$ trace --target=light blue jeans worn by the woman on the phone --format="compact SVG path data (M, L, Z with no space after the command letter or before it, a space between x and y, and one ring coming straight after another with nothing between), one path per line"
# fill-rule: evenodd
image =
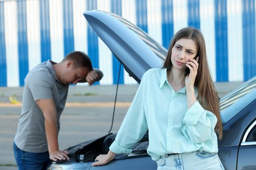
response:
M217 153L203 151L161 156L156 163L158 163L158 170L224 169Z

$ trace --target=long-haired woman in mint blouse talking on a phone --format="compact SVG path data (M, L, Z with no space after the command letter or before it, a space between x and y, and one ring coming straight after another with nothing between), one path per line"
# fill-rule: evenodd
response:
M184 76L185 68L190 73ZM205 41L186 27L173 37L163 68L146 71L104 165L148 131L148 154L158 169L224 169L217 155L222 136L219 97L207 64Z

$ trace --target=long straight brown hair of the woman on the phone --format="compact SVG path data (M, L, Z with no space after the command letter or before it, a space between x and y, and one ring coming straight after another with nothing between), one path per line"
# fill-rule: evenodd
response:
M213 112L213 114L215 114L217 117L217 125L215 126L215 131L219 134L219 139L221 139L223 135L223 124L221 122L219 95L215 89L215 85L209 71L205 41L203 39L202 33L193 27L185 27L178 31L171 40L167 58L163 63L163 68L171 69L173 65L171 63L171 50L179 39L192 39L192 41L196 43L198 48L197 56L199 56L199 65L194 86L198 87L198 101L202 105L203 109Z

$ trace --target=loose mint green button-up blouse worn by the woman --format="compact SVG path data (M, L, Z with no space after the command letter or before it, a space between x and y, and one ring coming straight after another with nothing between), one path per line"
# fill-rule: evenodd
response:
M148 131L147 152L152 160L196 150L218 152L216 124L215 114L203 109L198 101L187 109L186 88L175 92L167 82L167 69L150 69L142 76L110 150L130 153Z

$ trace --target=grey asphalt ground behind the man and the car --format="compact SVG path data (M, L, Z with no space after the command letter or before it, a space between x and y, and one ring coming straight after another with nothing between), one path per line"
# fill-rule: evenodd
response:
M241 84L217 83L215 86L222 98ZM112 133L118 131L138 86L119 85ZM22 90L0 88L0 169L17 169L12 143L21 111ZM111 128L115 97L116 86L70 86L66 108L60 118L60 149L106 135Z

